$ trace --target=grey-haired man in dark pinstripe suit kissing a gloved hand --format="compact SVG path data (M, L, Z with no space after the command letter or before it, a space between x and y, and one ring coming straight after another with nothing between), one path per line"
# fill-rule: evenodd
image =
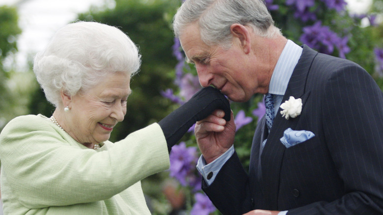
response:
M186 0L173 26L203 87L272 107L248 174L234 120L217 110L196 125L202 188L222 214L383 214L383 93L363 68L287 40L262 0Z

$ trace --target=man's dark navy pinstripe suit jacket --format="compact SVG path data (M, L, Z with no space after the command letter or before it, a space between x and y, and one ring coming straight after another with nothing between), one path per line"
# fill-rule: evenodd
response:
M307 46L283 101L301 98L301 115L278 114L265 138L256 128L248 174L236 153L203 190L224 215L253 209L290 214L383 214L383 93L357 64ZM306 130L315 137L285 148L283 132ZM240 143L239 143L240 144Z

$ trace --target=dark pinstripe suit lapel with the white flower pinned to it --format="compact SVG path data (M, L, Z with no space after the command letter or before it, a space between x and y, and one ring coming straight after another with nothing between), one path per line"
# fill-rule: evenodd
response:
M305 84L308 72L310 70L311 63L317 52L311 50L307 46L303 46L303 52L299 59L294 72L290 78L282 103L289 99L290 96L294 98L302 99L304 106L306 99L310 92L305 92ZM261 187L264 191L266 202L270 203L271 209L277 209L278 207L278 188L279 188L279 174L282 166L283 154L285 152L285 146L280 142L280 138L283 136L283 132L287 128L296 127L300 117L290 118L286 120L278 113L274 119L274 124L270 134L268 136L265 148L261 154L262 162L262 179Z

